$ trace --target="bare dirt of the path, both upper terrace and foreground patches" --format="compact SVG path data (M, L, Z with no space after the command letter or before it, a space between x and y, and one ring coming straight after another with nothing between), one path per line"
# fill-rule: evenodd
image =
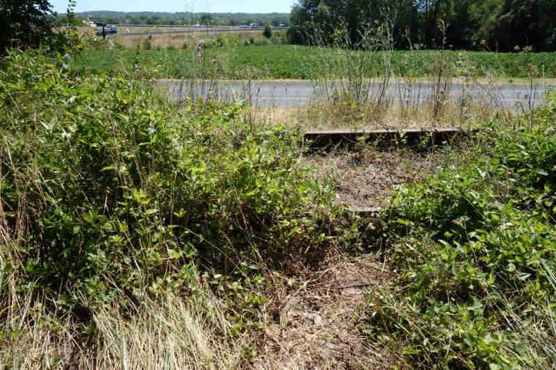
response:
M317 178L336 184L337 201L352 208L379 208L393 188L432 174L442 153L411 149L321 153L302 160ZM296 282L297 289L277 294L279 309L269 316L265 346L256 369L391 369L402 359L372 342L361 329L366 294L389 289L393 273L378 254L334 255L320 271ZM287 293L286 293L287 291Z

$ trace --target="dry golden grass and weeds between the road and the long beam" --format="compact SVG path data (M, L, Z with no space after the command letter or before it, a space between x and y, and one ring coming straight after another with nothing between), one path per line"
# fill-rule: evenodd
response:
M421 81L422 80L422 81ZM375 83L375 82L373 82ZM507 91L495 81L453 81L459 91L448 90L441 101L430 97L433 85L425 78L416 83L392 81L389 94L379 103L354 103L337 96L313 96L311 103L293 108L256 107L254 115L265 124L304 130L361 128L475 128L493 117L512 119L530 112L527 102L508 102ZM379 84L379 83L375 83ZM532 86L528 94L536 94ZM452 87L453 90L453 87ZM526 99L523 99L526 100Z

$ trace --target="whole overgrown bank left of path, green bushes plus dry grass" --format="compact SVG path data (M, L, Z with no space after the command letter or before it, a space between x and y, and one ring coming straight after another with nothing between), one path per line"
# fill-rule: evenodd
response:
M356 243L297 133L3 62L0 367L247 366L285 276Z

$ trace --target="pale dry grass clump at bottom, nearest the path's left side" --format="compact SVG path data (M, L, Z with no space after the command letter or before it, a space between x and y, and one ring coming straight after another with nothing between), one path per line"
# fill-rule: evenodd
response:
M102 345L99 369L236 369L245 362L245 337L232 337L219 302L167 296L147 301L124 319L114 311L95 315Z

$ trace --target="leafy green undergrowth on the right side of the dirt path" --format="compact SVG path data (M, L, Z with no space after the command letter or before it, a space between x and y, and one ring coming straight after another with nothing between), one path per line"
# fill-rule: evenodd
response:
M555 367L555 113L551 93L532 119L494 119L455 165L395 192L382 230L398 278L370 292L366 330L401 362Z

